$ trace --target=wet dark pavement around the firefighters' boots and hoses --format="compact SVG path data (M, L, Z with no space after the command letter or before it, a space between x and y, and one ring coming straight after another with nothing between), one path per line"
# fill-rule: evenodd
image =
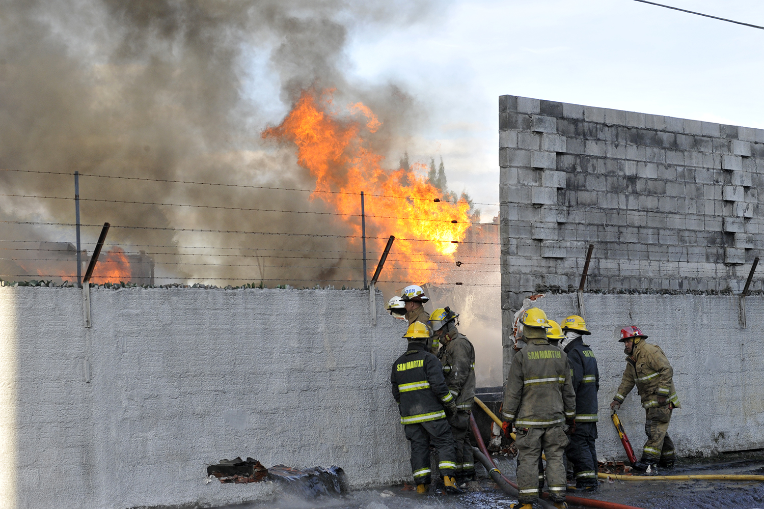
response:
M504 459L499 468L513 478L511 461ZM764 475L764 451L724 454L714 460L684 460L672 470L659 475L756 474ZM473 483L465 495L429 493L416 495L410 488L395 486L374 490L351 491L341 497L322 496L306 500L299 495L282 493L276 501L258 502L229 509L509 509L515 499L496 488L488 479ZM582 495L581 495L582 496ZM582 496L583 498L583 496ZM643 509L761 509L764 508L764 482L726 481L642 481L601 482L597 494L585 498L617 502ZM574 506L571 504L571 507Z

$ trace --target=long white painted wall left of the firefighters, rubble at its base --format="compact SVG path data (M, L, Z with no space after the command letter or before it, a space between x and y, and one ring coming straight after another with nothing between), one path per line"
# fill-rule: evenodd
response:
M390 395L405 325L358 290L0 288L0 507L225 504L206 466L410 476ZM89 368L86 368L86 363ZM86 372L91 373L86 382Z

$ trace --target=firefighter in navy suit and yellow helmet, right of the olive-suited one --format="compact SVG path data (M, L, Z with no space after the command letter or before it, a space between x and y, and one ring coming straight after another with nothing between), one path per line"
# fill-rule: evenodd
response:
M565 449L568 463L573 467L575 488L570 491L597 491L597 391L600 390L600 370L594 352L584 343L584 335L591 332L586 322L577 314L565 318L562 322L565 339L562 351L568 355L571 367L573 391L575 391L575 431L571 433L571 443Z

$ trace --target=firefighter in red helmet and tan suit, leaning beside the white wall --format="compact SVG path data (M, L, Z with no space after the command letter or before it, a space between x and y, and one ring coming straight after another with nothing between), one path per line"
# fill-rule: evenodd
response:
M642 449L642 459L634 463L634 469L655 472L656 465L672 468L675 460L674 442L669 437L669 421L674 408L681 408L674 388L674 370L663 350L657 345L645 343L647 336L639 327L630 325L621 329L619 342L626 353L626 370L621 385L613 396L610 409L620 408L634 385L645 408L645 433L647 443Z

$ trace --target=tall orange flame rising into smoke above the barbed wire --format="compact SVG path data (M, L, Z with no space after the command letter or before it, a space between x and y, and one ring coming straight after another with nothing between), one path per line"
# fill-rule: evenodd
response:
M403 253L410 261L391 261L398 270L396 278L411 282L441 282L442 275L429 255L453 256L458 242L471 226L467 201L435 201L442 191L429 184L426 177L404 169L387 170L384 157L370 148L371 137L381 123L377 116L359 103L347 112L332 111L331 92L317 97L303 92L296 105L277 127L264 130L263 137L296 146L300 166L316 179L312 198L321 198L339 213L355 216L348 221L354 235L361 235L359 194L365 200L367 235L396 237L393 252ZM354 120L362 114L365 122ZM419 165L424 169L424 165ZM334 191L350 194L329 194ZM383 196L375 196L383 195ZM360 243L360 240L358 240ZM381 251L384 239L371 240L369 250Z

